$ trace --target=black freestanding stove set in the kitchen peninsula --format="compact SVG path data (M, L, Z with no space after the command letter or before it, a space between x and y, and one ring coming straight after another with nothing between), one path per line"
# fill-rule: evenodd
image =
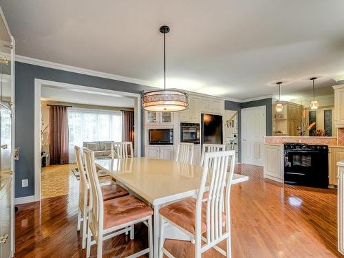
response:
M327 145L286 142L284 144L284 183L327 188Z

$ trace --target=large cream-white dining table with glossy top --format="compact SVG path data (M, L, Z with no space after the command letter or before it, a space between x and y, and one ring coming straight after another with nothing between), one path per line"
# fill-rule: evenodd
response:
M195 197L200 187L202 167L154 158L96 160L96 166L153 207L153 251L154 257L158 257L159 209L164 204ZM235 173L231 183L247 180L248 176ZM166 238L190 240L189 236L172 226L166 228Z

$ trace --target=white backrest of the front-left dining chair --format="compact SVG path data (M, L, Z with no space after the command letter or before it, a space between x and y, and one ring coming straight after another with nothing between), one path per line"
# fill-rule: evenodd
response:
M100 189L96 164L94 163L94 152L84 149L85 171L89 183L89 229L92 230L94 238L98 239L99 230L103 228L103 195Z

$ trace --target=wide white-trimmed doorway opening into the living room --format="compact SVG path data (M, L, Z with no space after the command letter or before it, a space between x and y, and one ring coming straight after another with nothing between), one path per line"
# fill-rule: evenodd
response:
M127 109L132 110L130 112L131 116L133 116L133 120L131 120L133 125L131 128L133 129L133 145L136 147L134 148L134 154L140 157L140 94L116 92L109 89L98 89L94 87L35 79L34 96L34 196L36 201L41 200L42 197L62 195L64 193L71 193L71 191L74 191L74 184L70 184L70 182L75 183L75 178L78 178L78 171L74 174L70 172L74 166L76 166L74 164L74 144L78 146L80 145L80 147L85 147L85 142L92 142L94 140L100 143L109 140L122 141L121 138L123 136L120 136L122 133L117 133L119 135L117 137L116 131L118 131L117 127L120 125L118 119L121 118L123 112L127 112ZM114 106L115 104L116 107ZM130 107L127 107L126 105L129 104ZM67 107L68 109L68 136L66 136L70 143L67 144L68 147L66 148L69 157L68 162L50 162L52 160L52 153L49 151L49 142L47 141L47 136L45 134L47 134L47 131L51 132L48 126L50 125L49 115L47 116L46 114L49 114L51 107ZM87 130L80 130L79 127L83 127ZM94 138L94 136L97 137ZM100 149L98 153L104 154L105 151L101 150L102 149ZM43 163L45 164L45 167L41 168ZM52 164L53 166L47 167L49 164ZM45 181L42 180L43 176L45 176L45 178L43 178ZM51 180L52 178L54 179ZM72 178L72 180L70 180L70 178ZM61 181L61 184L56 183L58 181L57 179ZM44 184L44 182L46 184ZM45 187L47 191L42 195L43 187Z

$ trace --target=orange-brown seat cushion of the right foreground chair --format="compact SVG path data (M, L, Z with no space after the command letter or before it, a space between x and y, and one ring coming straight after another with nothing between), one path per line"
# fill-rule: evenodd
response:
M202 220L201 220L201 232L206 232L206 202L202 205ZM166 205L160 208L160 215L169 219L177 226L184 228L191 234L195 235L196 231L196 199L186 198L180 202ZM222 220L226 219L226 215L222 213Z

